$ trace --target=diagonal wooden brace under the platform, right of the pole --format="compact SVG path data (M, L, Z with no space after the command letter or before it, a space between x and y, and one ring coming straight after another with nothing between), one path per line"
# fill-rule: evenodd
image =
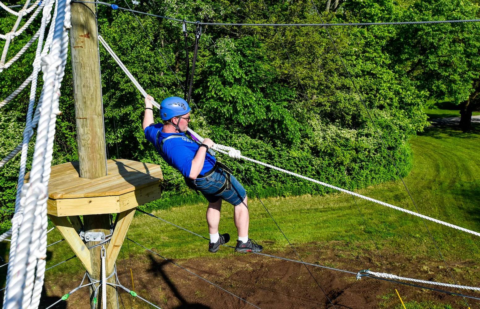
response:
M117 214L113 235L107 248L107 273L113 272L115 261L117 261L121 245L123 244L123 240L127 235L128 228L132 223L135 210L136 207Z

